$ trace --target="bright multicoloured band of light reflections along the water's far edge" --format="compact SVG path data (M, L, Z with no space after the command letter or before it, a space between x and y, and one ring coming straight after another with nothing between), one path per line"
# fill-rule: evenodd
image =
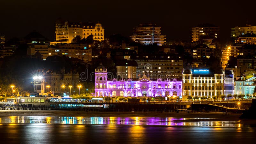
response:
M207 120L207 121L204 121ZM175 117L59 117L59 116L6 116L0 117L0 124L42 123L42 124L107 124L107 125L166 125L166 126L213 126L242 127L237 121L210 121L211 118Z

